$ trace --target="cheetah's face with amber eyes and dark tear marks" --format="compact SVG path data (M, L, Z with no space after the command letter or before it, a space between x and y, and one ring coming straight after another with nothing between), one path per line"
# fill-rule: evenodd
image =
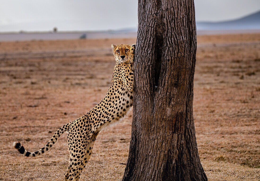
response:
M112 49L115 56L116 63L126 63L130 59L130 45L121 44L121 45L113 45Z

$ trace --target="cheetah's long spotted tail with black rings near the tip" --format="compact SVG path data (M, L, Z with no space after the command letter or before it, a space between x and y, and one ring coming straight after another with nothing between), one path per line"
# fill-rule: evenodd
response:
M56 131L56 133L54 133L54 135L51 137L50 141L40 150L36 151L36 152L28 152L24 149L23 145L21 145L20 142L14 142L14 147L23 155L26 157L37 157L39 155L42 155L43 153L47 152L48 150L50 150L50 148L57 142L58 138L60 138L60 136L68 130L70 123L67 123L65 125L63 125L60 129L58 129Z

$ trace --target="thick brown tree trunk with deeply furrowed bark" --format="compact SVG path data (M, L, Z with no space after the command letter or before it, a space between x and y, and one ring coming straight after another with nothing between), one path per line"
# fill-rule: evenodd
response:
M139 0L132 137L123 181L207 180L193 120L193 0Z

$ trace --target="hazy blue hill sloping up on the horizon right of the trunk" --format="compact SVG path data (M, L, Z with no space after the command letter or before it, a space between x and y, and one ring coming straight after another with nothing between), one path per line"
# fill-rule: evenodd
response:
M241 30L260 29L260 11L239 18L222 22L196 22L197 30Z

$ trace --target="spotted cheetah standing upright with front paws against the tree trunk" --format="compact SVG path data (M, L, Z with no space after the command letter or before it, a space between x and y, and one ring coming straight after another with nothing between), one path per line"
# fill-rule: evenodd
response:
M20 142L14 147L26 157L37 157L46 153L57 139L68 132L68 148L70 151L69 165L65 181L80 180L80 174L92 154L92 148L99 132L122 120L133 105L133 62L135 44L112 45L116 65L111 84L106 96L90 111L80 118L63 125L56 131L50 141L36 152L28 152Z

